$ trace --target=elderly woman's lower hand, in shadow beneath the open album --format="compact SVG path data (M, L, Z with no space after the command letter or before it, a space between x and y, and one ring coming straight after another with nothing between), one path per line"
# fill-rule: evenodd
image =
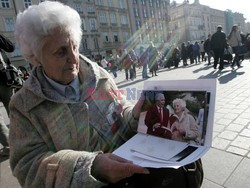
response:
M111 153L97 155L91 168L92 176L109 183L116 183L135 173L149 174L149 171Z

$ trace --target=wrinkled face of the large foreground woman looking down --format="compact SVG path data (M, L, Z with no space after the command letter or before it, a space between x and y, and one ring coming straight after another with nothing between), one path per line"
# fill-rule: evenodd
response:
M52 80L69 84L79 72L79 51L67 32L56 29L42 48L42 67Z

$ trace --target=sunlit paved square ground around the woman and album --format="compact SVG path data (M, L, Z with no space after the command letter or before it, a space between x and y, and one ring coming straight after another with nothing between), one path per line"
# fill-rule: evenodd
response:
M234 70L226 65L222 71L214 70L212 65L204 62L187 67L181 65L179 68L160 69L158 76L148 79L216 78L218 81L212 147L202 157L205 175L202 188L250 187L250 60L244 60L241 65ZM137 70L137 78L133 81L125 80L125 73L119 71L115 78L118 88L125 93L127 89L142 90L145 80L141 70ZM1 105L0 110L3 111ZM0 158L0 188L19 187L11 175L8 159Z

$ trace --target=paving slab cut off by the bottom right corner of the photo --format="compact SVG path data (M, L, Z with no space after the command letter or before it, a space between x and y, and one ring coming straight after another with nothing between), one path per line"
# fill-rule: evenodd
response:
M227 188L250 187L250 159L244 158L225 183Z

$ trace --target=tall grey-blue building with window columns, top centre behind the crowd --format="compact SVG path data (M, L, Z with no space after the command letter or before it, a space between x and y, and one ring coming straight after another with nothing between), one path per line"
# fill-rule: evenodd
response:
M126 46L138 49L167 41L170 0L127 0L127 4L133 36Z

